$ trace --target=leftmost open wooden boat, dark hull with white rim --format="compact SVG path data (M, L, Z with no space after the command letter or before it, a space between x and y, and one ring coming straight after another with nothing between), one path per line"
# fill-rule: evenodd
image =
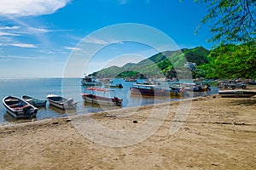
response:
M29 104L24 99L15 96L6 96L3 98L3 105L7 112L16 119L32 118L37 116L38 108Z

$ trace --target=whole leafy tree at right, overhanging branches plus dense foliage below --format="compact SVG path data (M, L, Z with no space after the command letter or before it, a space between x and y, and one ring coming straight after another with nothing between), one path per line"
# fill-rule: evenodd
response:
M211 78L256 78L256 1L195 0L207 4L201 24L210 22L212 38L218 48L201 65L198 76ZM198 29L197 29L198 31Z

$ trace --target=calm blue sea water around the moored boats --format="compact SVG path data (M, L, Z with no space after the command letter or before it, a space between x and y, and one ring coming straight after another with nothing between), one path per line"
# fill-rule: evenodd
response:
M81 94L86 92L85 86L81 85L80 78L15 78L15 79L0 79L0 99L7 95L20 97L23 94L32 96L38 99L46 99L48 94L58 94L67 99L73 98L77 101L77 107L72 111L62 111L55 106L49 105L47 102L46 107L39 107L36 118L16 120L10 116L5 107L0 104L0 125L9 125L20 122L32 122L44 119L55 119L57 117L82 115L92 112L107 111L117 109L116 107L102 107L101 105L91 105L85 103ZM153 105L164 102L172 102L180 98L170 97L144 97L140 95L133 95L130 93L130 88L134 82L125 82L123 79L114 79L113 84L121 83L124 88L111 88L118 98L124 99L121 108L139 107L141 105ZM104 88L98 87L98 88ZM190 97L197 97L201 95L218 94L218 88L211 87L212 90L207 93L193 94ZM118 107L120 108L120 107Z

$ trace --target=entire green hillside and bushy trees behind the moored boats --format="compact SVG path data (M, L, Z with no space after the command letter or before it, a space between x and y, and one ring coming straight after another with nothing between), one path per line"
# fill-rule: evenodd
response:
M250 78L256 79L256 43L225 44L211 51L203 47L165 51L143 59L137 64L111 66L94 72L96 77L130 78ZM187 62L196 63L191 71Z

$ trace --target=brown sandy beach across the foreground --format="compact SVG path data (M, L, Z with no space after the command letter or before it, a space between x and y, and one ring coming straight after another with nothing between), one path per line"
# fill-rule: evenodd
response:
M179 109L177 101L0 127L0 169L256 169L255 98L193 99L180 119Z

